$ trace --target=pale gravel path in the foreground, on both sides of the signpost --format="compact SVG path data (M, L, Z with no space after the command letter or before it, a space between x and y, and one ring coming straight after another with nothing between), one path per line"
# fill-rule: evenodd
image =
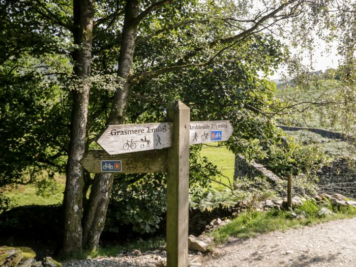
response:
M313 227L260 234L247 240L231 238L213 253L190 254L190 266L356 266L356 218L331 221ZM65 262L64 267L165 266L165 251L141 256L87 259ZM199 262L194 263L194 262Z

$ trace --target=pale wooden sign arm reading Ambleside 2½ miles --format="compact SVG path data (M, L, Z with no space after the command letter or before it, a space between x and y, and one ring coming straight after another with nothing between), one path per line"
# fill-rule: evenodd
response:
M189 144L227 141L233 131L229 121L191 122L189 129Z

